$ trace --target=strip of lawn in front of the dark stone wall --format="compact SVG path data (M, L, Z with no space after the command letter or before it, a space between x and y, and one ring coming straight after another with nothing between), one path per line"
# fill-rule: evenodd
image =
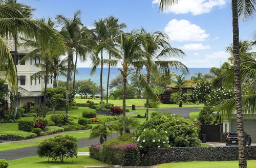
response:
M238 161L188 161L176 163L164 163L157 165L158 168L237 168ZM247 167L256 167L256 160L247 160Z

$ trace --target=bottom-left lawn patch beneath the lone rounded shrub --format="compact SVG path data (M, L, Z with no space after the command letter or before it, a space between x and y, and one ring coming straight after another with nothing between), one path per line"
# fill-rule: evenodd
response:
M104 166L106 163L93 159L89 156L77 156L72 159L64 159L63 163L57 161L48 161L48 158L39 158L38 156L25 157L8 161L9 168L40 168L40 167L87 167Z

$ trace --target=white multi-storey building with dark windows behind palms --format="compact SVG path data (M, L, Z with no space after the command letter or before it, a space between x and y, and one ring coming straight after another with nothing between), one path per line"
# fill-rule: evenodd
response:
M14 55L14 41L5 40L11 54ZM22 41L19 41L22 42ZM41 68L36 67L35 64L42 63L39 57L27 60L26 62L19 63L19 61L30 51L32 48L18 47L17 51L17 75L18 75L18 92L20 92L19 104L22 105L27 102L35 102L39 105L42 102L41 91L44 89L44 78L32 78L32 75L41 71ZM53 78L50 76L48 79L47 87L53 88Z

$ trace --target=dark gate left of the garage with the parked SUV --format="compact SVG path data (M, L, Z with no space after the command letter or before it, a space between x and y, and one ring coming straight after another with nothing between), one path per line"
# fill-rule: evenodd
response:
M201 125L202 134L207 135L207 142L220 142L222 133L222 125Z

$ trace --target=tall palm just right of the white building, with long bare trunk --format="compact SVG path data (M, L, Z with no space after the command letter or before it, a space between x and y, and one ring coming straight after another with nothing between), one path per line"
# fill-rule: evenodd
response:
M62 26L60 34L63 36L63 40L65 41L68 53L66 114L69 114L69 84L71 78L71 66L73 62L74 48L82 43L82 40L80 40L80 27L82 26L80 14L81 12L79 10L74 14L72 19L66 18L63 15L57 15L56 17L58 23Z

